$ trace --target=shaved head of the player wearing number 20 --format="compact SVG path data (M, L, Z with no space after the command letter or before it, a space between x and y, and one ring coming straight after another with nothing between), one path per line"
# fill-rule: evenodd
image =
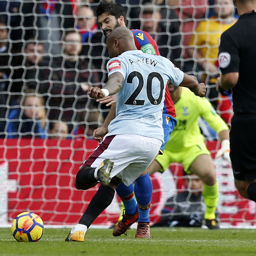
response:
M137 50L132 31L127 27L116 27L107 38L107 48L111 58L126 51Z

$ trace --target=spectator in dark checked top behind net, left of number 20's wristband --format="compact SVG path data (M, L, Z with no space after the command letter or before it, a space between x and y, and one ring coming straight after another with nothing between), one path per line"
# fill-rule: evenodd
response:
M69 133L75 122L81 120L83 112L97 108L96 101L87 95L89 86L99 86L99 75L88 61L82 59L81 35L68 31L64 36L62 56L54 58L46 71L48 83L43 92L47 93L49 120L63 120L69 124Z

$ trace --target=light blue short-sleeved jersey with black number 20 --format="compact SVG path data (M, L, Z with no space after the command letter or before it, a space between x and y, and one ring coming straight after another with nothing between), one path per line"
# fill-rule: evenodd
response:
M107 64L108 76L120 72L124 81L116 94L116 117L108 135L137 134L163 141L162 111L167 81L179 86L184 73L162 56L126 51Z

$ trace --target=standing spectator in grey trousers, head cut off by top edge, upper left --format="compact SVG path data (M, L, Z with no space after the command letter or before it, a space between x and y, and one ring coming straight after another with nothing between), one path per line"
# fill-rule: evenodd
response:
M47 57L61 54L62 31L74 29L72 0L21 1L21 39L42 40Z

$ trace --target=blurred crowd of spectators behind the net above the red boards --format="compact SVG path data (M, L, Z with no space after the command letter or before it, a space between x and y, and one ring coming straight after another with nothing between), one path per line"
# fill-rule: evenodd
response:
M206 96L229 124L232 102L213 85L220 35L236 22L232 0L115 2L126 8L129 28L148 32L162 56L212 85ZM0 1L1 138L90 137L102 124L108 108L87 95L89 86L107 81L98 3Z

